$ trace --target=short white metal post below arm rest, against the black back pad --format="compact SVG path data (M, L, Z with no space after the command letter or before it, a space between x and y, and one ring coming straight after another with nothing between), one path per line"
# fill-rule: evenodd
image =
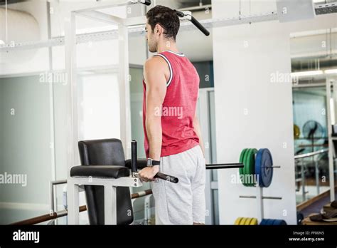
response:
M116 187L104 187L104 215L105 224L117 224L117 195Z

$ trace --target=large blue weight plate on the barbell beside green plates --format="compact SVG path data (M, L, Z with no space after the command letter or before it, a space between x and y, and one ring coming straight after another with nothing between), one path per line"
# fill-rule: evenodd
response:
M259 180L260 187L269 187L272 183L272 154L268 149L260 149L255 160L255 173Z

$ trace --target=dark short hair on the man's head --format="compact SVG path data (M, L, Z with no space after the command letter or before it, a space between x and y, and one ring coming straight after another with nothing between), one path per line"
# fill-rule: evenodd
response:
M165 6L157 5L147 12L146 18L152 31L154 31L156 24L159 24L165 29L165 37L173 38L174 41L176 41L176 36L180 28L180 20L176 11Z

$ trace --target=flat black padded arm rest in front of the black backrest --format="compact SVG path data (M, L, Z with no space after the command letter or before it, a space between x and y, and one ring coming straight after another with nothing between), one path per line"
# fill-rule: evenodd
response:
M70 170L70 177L119 178L129 177L129 175L129 169L124 166L80 165L72 167Z

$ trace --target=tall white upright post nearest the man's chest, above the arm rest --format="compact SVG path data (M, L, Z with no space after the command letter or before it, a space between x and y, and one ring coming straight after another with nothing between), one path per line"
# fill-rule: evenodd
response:
M119 24L119 109L120 138L126 157L131 157L131 116L129 82L129 39L127 26Z

